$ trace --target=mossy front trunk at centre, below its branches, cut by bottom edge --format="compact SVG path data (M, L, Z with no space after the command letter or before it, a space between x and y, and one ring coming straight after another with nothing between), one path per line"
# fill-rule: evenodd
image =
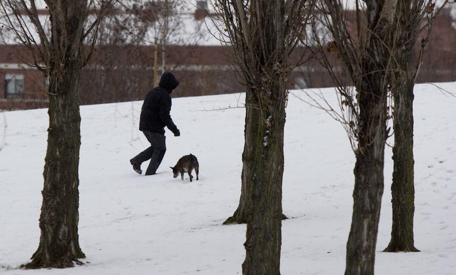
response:
M256 101L253 97L247 100ZM251 204L251 214L246 217L244 275L280 274L285 105L273 100L270 106L270 113L249 107L246 117L249 128L245 131L242 178L249 187L244 196Z

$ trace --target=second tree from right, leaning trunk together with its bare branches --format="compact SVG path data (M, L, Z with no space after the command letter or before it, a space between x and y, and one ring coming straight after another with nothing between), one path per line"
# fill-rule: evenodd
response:
M389 0L355 1L352 17L342 1L324 0L320 24L332 41L324 41L314 27L316 43L333 53L343 70L335 71L324 54L322 62L337 83L343 123L356 155L353 214L347 241L346 275L373 274L380 205L383 195L384 148L388 137L389 76L394 69ZM347 24L348 20L352 24ZM349 26L354 26L349 29ZM328 112L334 109L329 108Z

